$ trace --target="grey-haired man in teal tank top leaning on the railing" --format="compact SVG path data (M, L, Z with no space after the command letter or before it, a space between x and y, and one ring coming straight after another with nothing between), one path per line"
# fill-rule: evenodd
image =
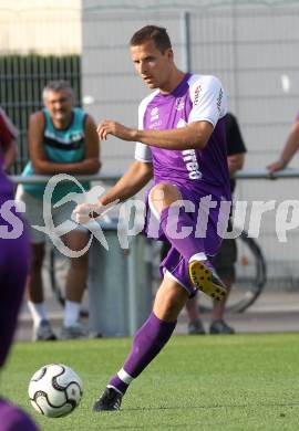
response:
M50 82L43 90L44 108L30 116L28 141L30 160L23 176L55 174L90 175L100 169L99 137L90 115L74 107L74 94L65 81ZM89 189L89 183L82 186ZM51 340L56 336L47 316L43 297L42 263L44 257L44 234L32 225L43 225L43 192L45 185L28 183L19 187L18 198L27 206L30 224L32 261L27 282L28 305L33 318L33 340ZM70 192L81 192L74 182L60 182L52 196L52 217L55 225L70 219L74 202L59 208L53 204ZM63 235L65 244L73 251L82 250L89 233L83 227ZM65 309L61 338L86 336L80 324L80 306L87 276L87 254L71 259L65 283Z

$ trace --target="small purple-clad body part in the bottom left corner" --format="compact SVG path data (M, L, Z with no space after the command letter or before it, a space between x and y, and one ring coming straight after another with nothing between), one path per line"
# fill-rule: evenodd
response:
M0 399L0 431L39 431L20 408Z

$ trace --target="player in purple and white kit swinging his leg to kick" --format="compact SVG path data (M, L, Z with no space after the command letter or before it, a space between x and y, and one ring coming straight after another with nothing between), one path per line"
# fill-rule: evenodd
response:
M230 200L224 88L214 76L193 75L176 67L164 28L146 25L138 30L130 49L136 71L155 91L140 105L138 129L105 119L97 132L101 139L114 135L137 141L136 160L99 203L78 206L76 219L87 222L101 213L102 206L134 196L154 177L146 198L145 232L153 235L151 220L155 217L159 220L159 239L166 238L172 249L162 262L164 278L153 312L136 333L123 367L95 402L95 411L120 409L130 383L171 338L189 296L197 290L218 299L226 294L208 261L221 242L217 234L220 202ZM200 198L204 204L199 206ZM198 217L207 219L207 229L199 223L202 235L195 234ZM186 229L192 233L186 235Z

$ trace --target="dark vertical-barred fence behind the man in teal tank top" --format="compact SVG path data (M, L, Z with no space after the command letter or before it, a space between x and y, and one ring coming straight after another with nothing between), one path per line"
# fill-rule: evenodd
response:
M42 90L52 80L68 80L81 101L81 59L79 55L1 55L0 101L20 130L19 156L13 171L19 174L28 160L27 128L30 114L42 107Z

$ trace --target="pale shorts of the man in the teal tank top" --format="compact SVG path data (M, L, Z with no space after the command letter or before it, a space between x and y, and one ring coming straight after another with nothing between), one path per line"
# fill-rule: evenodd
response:
M33 225L38 225L38 227L45 225L44 216L43 216L43 201L41 199L34 198L32 195L24 191L21 185L18 186L16 200L22 201L25 204L24 218L29 224L29 233L30 233L31 242L33 244L45 242L47 234L33 228ZM51 206L51 213L52 213L54 225L59 227L68 220L73 222L71 216L75 207L76 203L74 201L63 203L58 208L53 208L53 206ZM72 231L74 230L86 232L86 234L89 232L89 230L81 224L76 224L76 228L73 229Z

